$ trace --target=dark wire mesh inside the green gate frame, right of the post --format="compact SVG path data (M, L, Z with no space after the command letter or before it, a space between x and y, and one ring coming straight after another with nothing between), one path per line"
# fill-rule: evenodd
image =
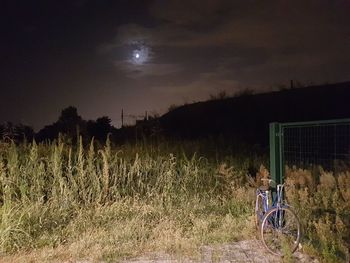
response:
M320 165L326 170L350 165L350 123L283 127L285 165Z

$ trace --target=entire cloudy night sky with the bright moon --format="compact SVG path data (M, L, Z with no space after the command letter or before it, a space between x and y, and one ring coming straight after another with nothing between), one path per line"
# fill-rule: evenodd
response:
M0 122L36 130L350 80L349 0L0 1ZM132 117L129 121L132 121Z

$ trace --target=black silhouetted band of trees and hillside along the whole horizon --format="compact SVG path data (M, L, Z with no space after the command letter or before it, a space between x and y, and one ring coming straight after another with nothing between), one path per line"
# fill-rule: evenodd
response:
M140 140L200 139L222 136L232 143L245 142L266 146L271 122L292 122L348 118L350 82L294 88L283 88L270 93L254 94L245 89L233 97L225 92L205 102L171 106L161 117L145 117L133 126L116 129L108 116L84 120L75 107L62 110L58 120L34 134L31 127L6 123L0 125L1 138L16 142L52 141L59 134L75 143L82 136L83 143L92 138L104 143L107 136L115 144ZM298 88L296 88L298 87Z

